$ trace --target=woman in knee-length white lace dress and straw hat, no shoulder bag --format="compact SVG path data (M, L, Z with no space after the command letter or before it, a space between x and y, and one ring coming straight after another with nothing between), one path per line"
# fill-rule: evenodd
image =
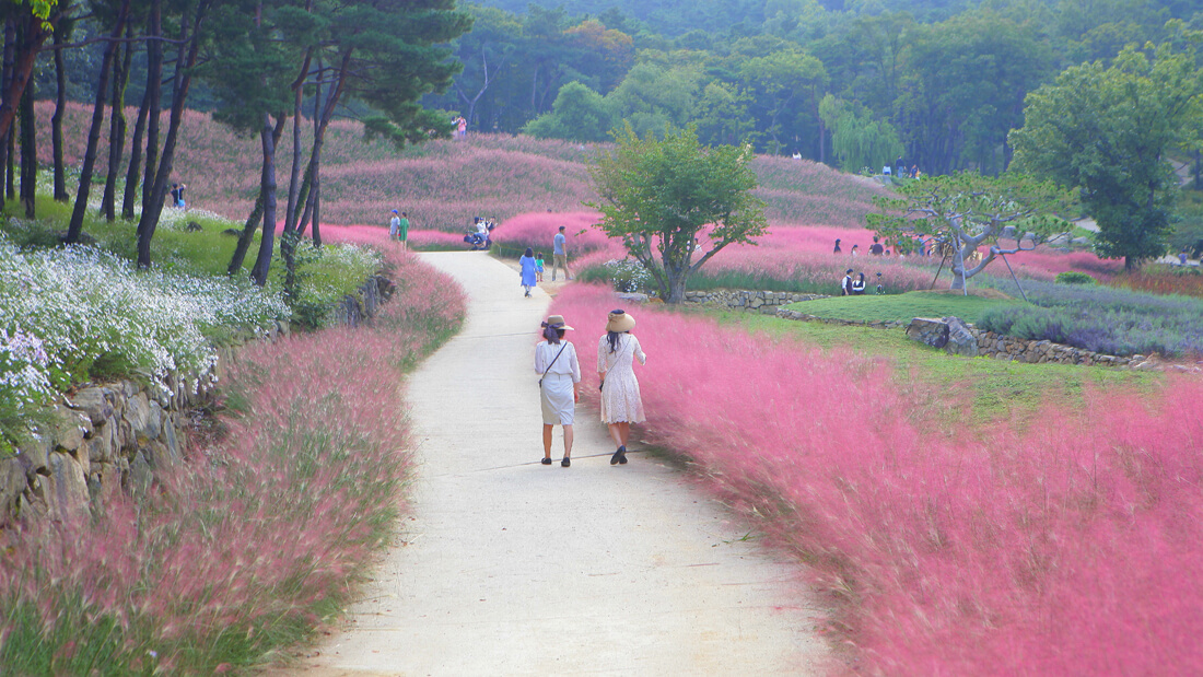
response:
M634 361L647 363L639 339L630 334L635 319L629 313L611 310L605 325L606 334L598 342L598 379L602 380L602 422L610 429L610 438L618 447L610 457L610 465L627 462L627 440L630 424L642 423L644 400L639 397Z

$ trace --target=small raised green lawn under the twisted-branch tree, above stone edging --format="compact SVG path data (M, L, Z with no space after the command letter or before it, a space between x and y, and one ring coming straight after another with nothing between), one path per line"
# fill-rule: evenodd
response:
M959 296L930 291L896 295L832 296L787 305L790 310L838 320L901 321L912 317L947 317L955 315L966 322L977 322L986 308L1018 303L1012 299Z

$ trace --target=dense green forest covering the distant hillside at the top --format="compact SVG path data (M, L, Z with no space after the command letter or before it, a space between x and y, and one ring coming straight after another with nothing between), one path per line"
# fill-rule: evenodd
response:
M605 141L695 123L847 171L1005 170L1025 96L1071 65L1171 40L1189 0L486 0L428 106L469 130ZM541 117L541 118L540 118Z

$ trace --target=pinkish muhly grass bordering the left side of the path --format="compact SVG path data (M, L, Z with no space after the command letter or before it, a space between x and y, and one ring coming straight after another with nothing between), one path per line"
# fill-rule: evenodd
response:
M43 521L0 536L0 665L223 671L339 608L411 468L402 368L464 311L452 280L385 250L399 284L378 328L242 346L223 390L241 415L223 418L219 444L194 443L156 471L149 498L118 493L95 525Z

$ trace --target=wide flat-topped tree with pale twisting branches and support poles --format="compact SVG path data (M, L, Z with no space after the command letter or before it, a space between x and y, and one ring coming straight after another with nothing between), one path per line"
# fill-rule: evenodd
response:
M1066 213L1073 201L1051 182L964 172L906 182L897 188L897 197L875 197L873 203L882 213L867 216L870 228L902 251L917 239L946 248L953 259L950 289L965 289L966 280L1000 255L1030 251L1053 233L1068 231L1068 222L1057 214ZM1011 234L1008 228L1015 232L1014 247L1000 243L1005 233ZM989 253L967 267L983 245Z

